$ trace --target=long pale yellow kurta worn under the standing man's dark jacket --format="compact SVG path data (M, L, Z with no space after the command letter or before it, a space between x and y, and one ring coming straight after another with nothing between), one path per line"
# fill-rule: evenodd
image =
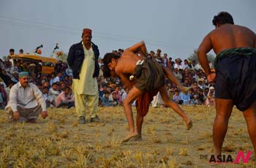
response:
M94 50L90 47L89 50L83 45L85 58L80 70L80 79L73 80L73 89L78 94L96 95L98 94L97 78L93 77L95 69Z

